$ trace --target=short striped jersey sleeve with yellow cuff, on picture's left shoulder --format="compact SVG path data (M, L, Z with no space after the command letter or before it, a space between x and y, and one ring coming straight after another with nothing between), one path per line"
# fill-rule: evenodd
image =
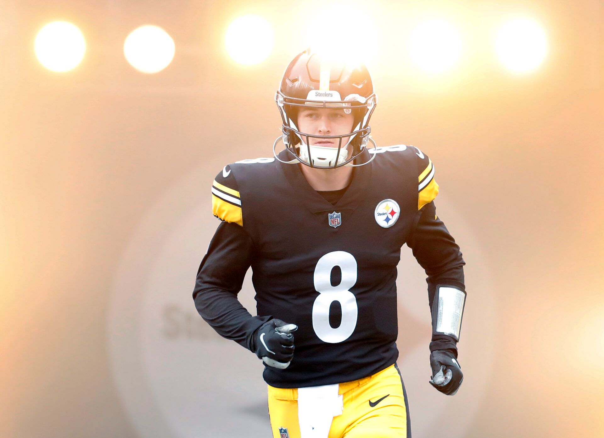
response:
M228 164L216 175L212 183L212 214L220 221L243 227L239 186Z

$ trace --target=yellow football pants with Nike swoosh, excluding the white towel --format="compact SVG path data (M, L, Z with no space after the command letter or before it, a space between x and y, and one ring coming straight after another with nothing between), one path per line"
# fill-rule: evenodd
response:
M343 396L344 410L333 417L329 438L411 438L407 394L396 364L369 377L340 383L338 394ZM301 438L297 400L297 389L268 386L274 438L281 438L280 429L282 433L286 429L289 438Z

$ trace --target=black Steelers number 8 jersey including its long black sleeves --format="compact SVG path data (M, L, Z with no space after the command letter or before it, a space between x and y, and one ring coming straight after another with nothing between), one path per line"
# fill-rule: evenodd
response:
M226 224L199 268L196 307L218 333L248 348L270 318L298 325L289 367L265 367L271 386L352 381L396 361L403 244L428 273L430 300L437 283L464 287L461 253L435 214L431 160L404 145L363 158L371 154L335 205L298 164L274 158L229 164L214 180L213 213ZM236 299L249 266L254 318ZM451 338L437 338L431 349L455 348Z

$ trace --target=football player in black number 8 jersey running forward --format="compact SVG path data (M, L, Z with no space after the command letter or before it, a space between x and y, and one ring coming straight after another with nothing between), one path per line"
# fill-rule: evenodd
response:
M413 146L377 148L362 64L304 51L275 100L274 157L228 164L211 187L222 223L199 266L196 308L265 363L275 438L410 437L396 364L405 243L428 275L429 383L454 395L463 380L464 261L435 211L434 164ZM258 316L237 300L249 267Z

